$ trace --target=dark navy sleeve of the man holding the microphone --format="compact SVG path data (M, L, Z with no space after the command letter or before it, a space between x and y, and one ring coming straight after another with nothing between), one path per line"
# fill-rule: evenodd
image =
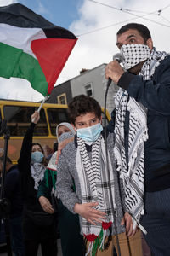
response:
M150 80L141 75L123 73L118 86L127 90L129 96L144 105L145 108L168 115L170 113L170 56L156 67Z

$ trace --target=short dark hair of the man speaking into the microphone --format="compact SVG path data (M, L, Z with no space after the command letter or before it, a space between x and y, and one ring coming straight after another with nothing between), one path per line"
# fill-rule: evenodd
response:
M144 39L144 42L151 38L150 31L147 26L139 23L128 23L127 25L122 26L122 28L120 28L117 32L117 36L122 35L122 33L127 32L129 29L136 29L140 36Z

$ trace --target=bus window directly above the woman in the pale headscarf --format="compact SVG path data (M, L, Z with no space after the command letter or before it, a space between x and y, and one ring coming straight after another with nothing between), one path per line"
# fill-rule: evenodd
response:
M68 122L66 108L48 108L48 121L52 135L56 136L56 126L62 122Z

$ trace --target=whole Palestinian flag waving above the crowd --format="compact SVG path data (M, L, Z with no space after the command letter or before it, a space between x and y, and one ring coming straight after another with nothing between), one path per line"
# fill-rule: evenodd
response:
M73 33L20 3L0 7L0 76L3 78L27 79L33 89L47 96L76 42Z

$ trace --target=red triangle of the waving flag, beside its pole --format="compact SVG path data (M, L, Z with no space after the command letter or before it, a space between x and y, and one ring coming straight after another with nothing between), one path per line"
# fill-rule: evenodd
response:
M48 82L48 94L53 90L59 73L76 43L77 39L68 38L44 38L31 42L31 50L36 55Z

